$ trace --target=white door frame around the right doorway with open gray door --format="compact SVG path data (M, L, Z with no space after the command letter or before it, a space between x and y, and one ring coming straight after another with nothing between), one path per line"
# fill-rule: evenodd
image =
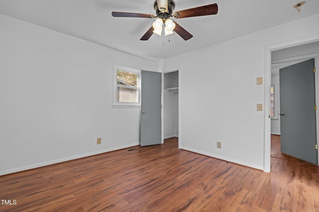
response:
M272 64L274 61L277 63L284 63L288 62L287 58L290 58L290 62L293 62L294 60L301 60L307 59L307 58L315 58L315 65L316 67L319 67L319 53L317 48L315 52L309 52L309 50L306 48L307 46L312 46L316 49L316 45L319 44L319 36L316 38L304 38L296 41L291 41L287 43L282 44L276 44L272 46L267 46L265 48L265 105L271 105L271 76L272 76ZM297 50L301 50L301 52L298 53ZM308 52L307 52L308 51ZM298 53L298 55L296 55ZM292 55L295 54L295 55ZM281 55L281 59L274 59L275 56ZM307 56L307 57L305 57ZM318 77L316 77L316 104L318 105ZM265 152L264 152L264 171L270 172L270 143L271 143L271 108L265 107ZM317 126L318 126L318 113L316 115L317 117ZM317 129L318 131L318 129ZM279 133L280 134L280 133ZM278 135L278 134L277 134ZM317 132L318 135L318 132ZM318 137L318 136L317 136ZM318 141L318 138L317 138Z

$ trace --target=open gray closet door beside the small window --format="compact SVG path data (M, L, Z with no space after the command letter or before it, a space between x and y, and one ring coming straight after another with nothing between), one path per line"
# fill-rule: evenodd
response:
M142 71L141 146L161 143L161 73Z

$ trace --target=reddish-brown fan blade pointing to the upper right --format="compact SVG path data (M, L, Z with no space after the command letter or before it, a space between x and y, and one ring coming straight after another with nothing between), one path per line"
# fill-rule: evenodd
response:
M215 15L218 12L217 3L208 4L205 6L198 6L190 9L184 9L174 12L173 16L175 18L187 18L203 15Z

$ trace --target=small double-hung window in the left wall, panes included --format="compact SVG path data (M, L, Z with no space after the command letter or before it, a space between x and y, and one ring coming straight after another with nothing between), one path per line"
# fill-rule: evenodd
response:
M113 106L141 106L141 71L114 66Z

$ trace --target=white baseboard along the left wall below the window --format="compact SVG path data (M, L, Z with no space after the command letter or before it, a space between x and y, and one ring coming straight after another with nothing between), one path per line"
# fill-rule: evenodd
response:
M28 170L28 169L39 168L39 167L42 167L42 166L52 165L52 164L55 164L55 163L61 163L61 162L69 161L69 160L79 159L79 158L82 158L82 157L87 157L87 156L92 156L92 155L96 155L96 154L106 153L106 152L115 151L115 150L119 150L119 149L124 149L124 148L137 146L137 145L140 145L140 143L139 142L138 143L132 143L132 144L118 146L118 147L114 147L114 148L108 148L108 149L103 149L103 150L99 150L99 151L88 152L88 153L84 153L84 154L79 154L79 155L74 155L74 156L70 156L70 157L60 158L60 159L56 159L56 160L50 160L50 161L46 161L46 162L42 162L42 163L36 163L36 164L28 165L28 166L22 166L22 167L17 167L17 168L13 168L13 169L7 169L7 170L4 170L4 171L0 171L0 176L1 175L5 175L5 174L12 174L14 172L19 172L19 171L25 171L25 170Z

